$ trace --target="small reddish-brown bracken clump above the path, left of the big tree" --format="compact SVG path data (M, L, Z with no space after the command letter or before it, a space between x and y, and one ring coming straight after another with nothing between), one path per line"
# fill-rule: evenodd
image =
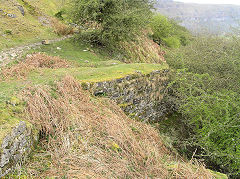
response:
M74 29L60 22L59 20L52 18L51 20L54 32L58 35L71 35L74 34Z

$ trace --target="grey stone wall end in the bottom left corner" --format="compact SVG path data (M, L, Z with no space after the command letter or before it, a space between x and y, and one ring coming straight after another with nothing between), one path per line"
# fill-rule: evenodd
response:
M11 172L17 163L23 162L37 140L32 127L20 121L0 142L0 178Z

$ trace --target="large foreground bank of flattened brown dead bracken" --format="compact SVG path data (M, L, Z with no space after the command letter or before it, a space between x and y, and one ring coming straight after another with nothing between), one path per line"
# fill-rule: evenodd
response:
M211 178L191 164L170 170L174 157L156 129L129 119L108 99L89 97L72 77L26 89L22 97L29 121L44 131L45 150L29 162L29 177Z

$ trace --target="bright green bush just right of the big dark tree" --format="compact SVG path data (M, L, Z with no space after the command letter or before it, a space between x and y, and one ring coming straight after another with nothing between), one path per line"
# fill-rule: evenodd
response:
M153 31L153 40L171 48L186 46L191 38L186 28L161 14L153 16L150 27Z

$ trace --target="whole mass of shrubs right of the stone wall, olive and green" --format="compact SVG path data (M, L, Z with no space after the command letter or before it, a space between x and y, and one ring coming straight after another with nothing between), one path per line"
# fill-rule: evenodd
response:
M189 147L231 177L240 175L240 44L199 38L168 55L169 85L178 113L194 136Z

